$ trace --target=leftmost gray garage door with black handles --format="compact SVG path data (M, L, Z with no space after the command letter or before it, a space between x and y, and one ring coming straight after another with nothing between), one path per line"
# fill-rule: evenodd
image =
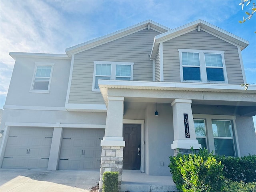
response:
M52 128L11 127L2 168L47 169Z

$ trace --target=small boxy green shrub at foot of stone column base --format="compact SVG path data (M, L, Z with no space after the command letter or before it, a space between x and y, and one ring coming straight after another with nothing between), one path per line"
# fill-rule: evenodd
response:
M106 171L103 173L103 192L118 192L118 172Z

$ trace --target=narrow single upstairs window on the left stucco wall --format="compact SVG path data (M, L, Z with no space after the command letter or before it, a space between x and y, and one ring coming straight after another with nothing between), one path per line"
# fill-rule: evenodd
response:
M36 62L30 92L49 92L54 63Z

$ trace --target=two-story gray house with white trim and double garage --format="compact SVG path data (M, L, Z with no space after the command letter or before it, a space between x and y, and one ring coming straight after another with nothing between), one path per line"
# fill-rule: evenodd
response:
M207 148L256 154L241 51L248 42L202 20L151 20L66 49L15 59L1 130L2 168L169 175L169 156Z

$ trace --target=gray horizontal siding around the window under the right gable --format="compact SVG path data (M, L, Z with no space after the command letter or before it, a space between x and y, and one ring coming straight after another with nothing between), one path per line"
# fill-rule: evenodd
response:
M228 83L244 82L237 47L203 30L194 30L163 43L164 81L180 82L178 49L223 50Z

